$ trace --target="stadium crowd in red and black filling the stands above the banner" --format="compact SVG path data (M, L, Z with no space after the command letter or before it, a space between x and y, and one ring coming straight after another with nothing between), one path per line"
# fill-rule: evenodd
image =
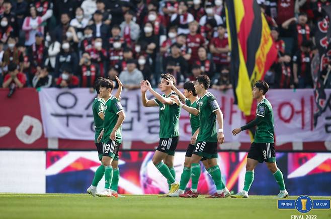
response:
M230 89L224 2L0 0L0 83L89 88L116 75L130 90L143 79L155 87L168 72L179 85L207 74L212 88ZM265 80L271 88L312 88L312 37L326 1L258 2L278 49Z

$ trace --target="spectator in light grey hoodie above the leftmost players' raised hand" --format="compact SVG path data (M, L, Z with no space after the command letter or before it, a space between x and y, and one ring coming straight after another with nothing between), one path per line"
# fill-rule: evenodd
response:
M144 80L141 71L136 68L136 62L133 59L127 61L127 70L122 71L119 78L123 83L123 88L128 90L139 89L140 82Z

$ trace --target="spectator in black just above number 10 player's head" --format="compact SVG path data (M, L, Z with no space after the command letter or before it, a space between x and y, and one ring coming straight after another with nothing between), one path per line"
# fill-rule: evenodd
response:
M187 78L187 61L183 58L180 50L180 45L178 45L177 43L171 46L171 55L165 58L165 60L163 61L163 69L167 69L167 65L169 65L169 63L174 63L172 65L175 66L173 75L176 79L180 79L182 76L184 77L184 79ZM181 82L181 80L178 80L178 82Z

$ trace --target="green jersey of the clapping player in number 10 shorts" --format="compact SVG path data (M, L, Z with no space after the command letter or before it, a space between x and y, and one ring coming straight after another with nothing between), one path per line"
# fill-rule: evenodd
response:
M177 94L175 92L171 92L168 96L162 94L162 97L168 98L172 95ZM172 138L179 136L179 116L181 114L181 107L176 103L172 105L162 104L156 98L154 101L159 106L160 138Z

